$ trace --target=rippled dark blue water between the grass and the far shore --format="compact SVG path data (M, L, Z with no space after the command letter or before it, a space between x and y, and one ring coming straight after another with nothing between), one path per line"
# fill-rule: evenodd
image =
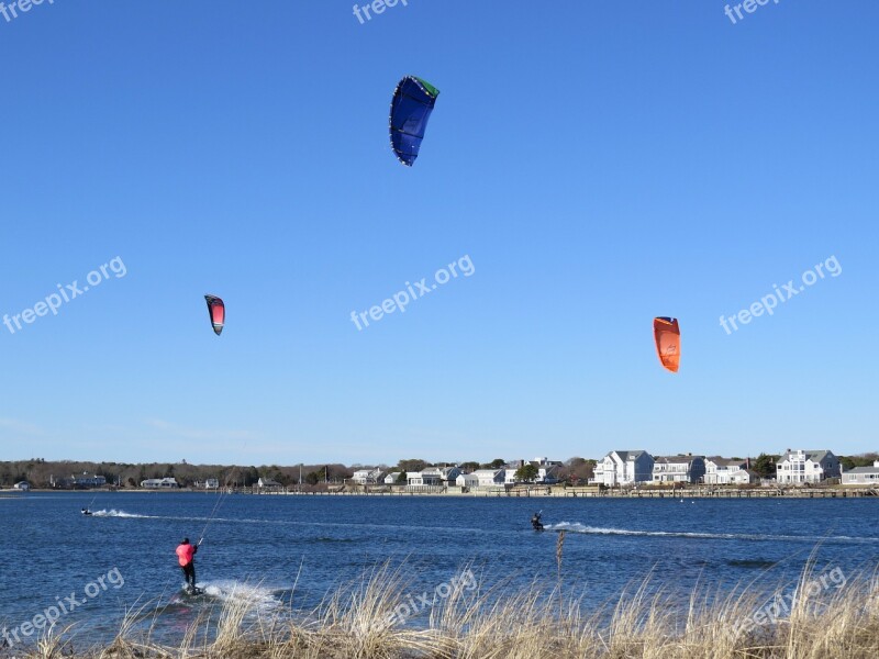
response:
M199 585L211 596L187 599L174 549L183 536L201 535L218 502L197 557ZM96 515L80 515L89 504ZM537 509L548 533L530 527ZM682 592L697 581L775 587L794 580L812 554L820 566L849 576L872 570L877 513L872 499L36 493L0 499L0 630L76 593L85 603L63 622L78 622L78 634L103 638L116 630L126 605L146 604L159 608L157 635L173 641L209 602L247 596L266 611L308 608L389 558L405 562L430 589L465 563L488 585L534 578L553 585L553 532L560 528L568 532L565 582L588 594L587 605L650 570L658 583Z

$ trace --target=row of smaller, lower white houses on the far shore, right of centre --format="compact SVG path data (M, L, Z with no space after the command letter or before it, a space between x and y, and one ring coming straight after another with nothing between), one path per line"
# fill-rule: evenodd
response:
M464 473L458 467L429 467L421 471L407 472L404 480L401 479L402 471L391 471L385 473L381 469L359 469L354 472L352 481L358 485L399 485L405 484L411 488L421 487L449 487L460 488L490 488L512 485L520 482L516 472L525 465L535 468L533 481L538 484L554 484L559 481L558 471L561 462L549 460L548 458L534 458L533 460L515 460L499 469L477 469L476 471Z

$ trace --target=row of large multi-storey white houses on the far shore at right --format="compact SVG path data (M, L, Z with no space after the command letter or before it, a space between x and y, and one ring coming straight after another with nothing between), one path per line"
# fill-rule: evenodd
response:
M843 470L831 450L791 450L776 462L776 483L805 484L838 479L846 485L879 484L879 461L872 467ZM608 487L637 483L705 483L746 485L760 482L750 459L692 454L654 457L646 450L613 450L599 461L590 481Z

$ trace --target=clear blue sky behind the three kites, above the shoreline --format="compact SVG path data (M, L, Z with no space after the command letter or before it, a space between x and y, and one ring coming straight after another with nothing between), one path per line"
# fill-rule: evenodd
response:
M879 7L73 2L0 16L0 458L875 450ZM407 74L441 90L412 169ZM407 281L475 271L358 331ZM825 277L728 334L772 286ZM221 295L213 335L202 295ZM664 371L657 315L680 320Z

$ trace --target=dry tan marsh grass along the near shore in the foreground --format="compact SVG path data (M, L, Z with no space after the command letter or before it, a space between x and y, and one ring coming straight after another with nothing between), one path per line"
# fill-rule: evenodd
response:
M393 615L414 582L405 566L385 563L329 593L312 611L267 615L248 599L192 622L177 646L155 641L145 606L127 611L119 634L99 650L75 654L69 628L49 630L26 659L875 659L879 657L879 580L848 578L844 587L812 594L812 561L794 584L802 596L783 617L743 625L765 608L765 589L697 584L688 600L666 591L653 574L604 604L566 592L564 540L557 546L558 582L547 589L511 580L454 588L415 627ZM469 569L469 568L468 568ZM783 591L779 584L776 594ZM790 590L790 589L788 589ZM772 593L770 593L771 595ZM147 618L148 619L148 616ZM143 625L141 625L143 627ZM0 651L0 657L2 652ZM22 657L16 655L16 657Z

